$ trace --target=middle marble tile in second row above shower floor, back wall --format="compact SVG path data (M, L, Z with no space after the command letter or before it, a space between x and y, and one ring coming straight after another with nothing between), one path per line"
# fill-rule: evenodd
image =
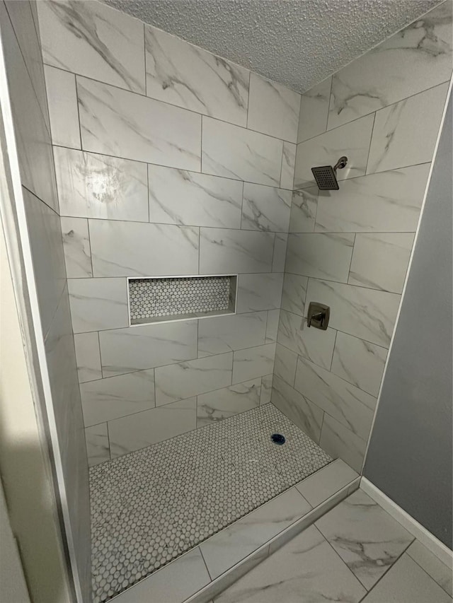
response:
M233 354L156 368L156 406L231 385Z

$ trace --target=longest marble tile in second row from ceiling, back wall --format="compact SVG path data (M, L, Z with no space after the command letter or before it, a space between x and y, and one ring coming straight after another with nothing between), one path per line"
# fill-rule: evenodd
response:
M82 148L200 171L201 117L77 77Z

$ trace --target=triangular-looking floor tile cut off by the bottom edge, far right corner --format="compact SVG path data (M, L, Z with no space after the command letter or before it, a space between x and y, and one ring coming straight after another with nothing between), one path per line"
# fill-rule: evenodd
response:
M404 554L391 567L363 603L452 603L445 590Z

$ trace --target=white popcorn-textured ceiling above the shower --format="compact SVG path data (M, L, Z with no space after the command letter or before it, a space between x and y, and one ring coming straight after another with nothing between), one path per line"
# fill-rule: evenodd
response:
M104 0L299 92L439 0Z

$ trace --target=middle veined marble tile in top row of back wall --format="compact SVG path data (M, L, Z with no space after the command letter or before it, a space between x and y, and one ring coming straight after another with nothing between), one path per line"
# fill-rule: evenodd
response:
M246 126L248 69L145 25L147 95Z

